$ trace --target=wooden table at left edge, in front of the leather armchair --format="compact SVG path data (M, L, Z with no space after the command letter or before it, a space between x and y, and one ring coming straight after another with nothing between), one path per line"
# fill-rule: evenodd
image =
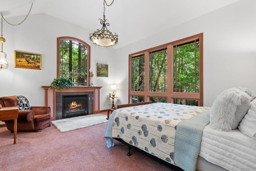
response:
M18 106L16 107L2 107L0 109L0 121L14 120L13 133L14 144L16 144L17 135L17 119L18 119Z

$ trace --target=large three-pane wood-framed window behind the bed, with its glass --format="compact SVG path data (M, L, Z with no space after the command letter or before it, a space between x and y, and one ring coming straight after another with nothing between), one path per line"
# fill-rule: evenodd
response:
M203 105L203 34L129 55L129 102Z

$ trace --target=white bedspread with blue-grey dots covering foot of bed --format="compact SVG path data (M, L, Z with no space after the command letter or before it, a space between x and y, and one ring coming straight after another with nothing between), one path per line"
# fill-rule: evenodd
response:
M112 135L121 138L160 159L174 164L174 138L176 125L189 119L208 107L178 105L173 103L151 103L116 109L112 124ZM110 123L113 120L113 123Z

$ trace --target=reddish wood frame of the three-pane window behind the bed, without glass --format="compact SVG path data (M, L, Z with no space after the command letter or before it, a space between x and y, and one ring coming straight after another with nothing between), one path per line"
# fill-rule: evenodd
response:
M200 57L199 57L199 93L184 93L173 91L173 47L179 44L184 44L199 39L200 41ZM167 103L172 103L173 98L180 99L194 99L198 100L198 106L203 106L204 101L204 89L203 89L203 33L196 34L187 38L176 40L167 44L156 46L147 50L136 52L129 55L129 80L128 80L128 102L132 103L132 96L144 96L145 101L149 100L149 97L167 97ZM149 54L150 52L167 48L167 92L154 92L149 91ZM145 56L145 78L144 78L144 91L131 91L131 71L132 71L132 57L144 54ZM170 79L171 78L171 79Z

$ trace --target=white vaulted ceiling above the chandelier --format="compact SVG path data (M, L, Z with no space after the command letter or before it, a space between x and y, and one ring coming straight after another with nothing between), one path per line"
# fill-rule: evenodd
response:
M118 34L120 48L157 34L238 0L114 0L106 6L105 15L111 32ZM5 18L45 13L94 32L100 29L104 0L0 0ZM112 0L106 0L111 4ZM89 36L89 32L85 33Z

